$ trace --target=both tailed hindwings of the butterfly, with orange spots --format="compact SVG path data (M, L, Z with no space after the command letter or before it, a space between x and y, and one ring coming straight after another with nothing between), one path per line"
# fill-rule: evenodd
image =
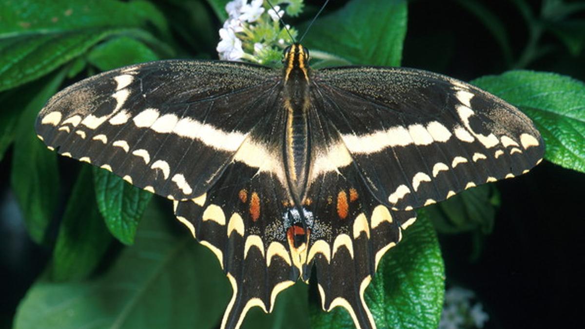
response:
M317 108L310 112L314 166L300 207L287 190L282 108L259 120L207 193L175 201L178 220L215 253L232 285L222 328L238 328L251 307L270 312L278 293L309 280L313 265L324 310L342 306L358 328L375 327L364 290L415 213L376 200L345 161L339 133Z

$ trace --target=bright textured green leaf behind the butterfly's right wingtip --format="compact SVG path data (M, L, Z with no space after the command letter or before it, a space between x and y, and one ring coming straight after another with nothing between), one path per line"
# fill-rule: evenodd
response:
M585 84L555 73L509 71L473 80L519 107L545 140L545 159L585 172Z

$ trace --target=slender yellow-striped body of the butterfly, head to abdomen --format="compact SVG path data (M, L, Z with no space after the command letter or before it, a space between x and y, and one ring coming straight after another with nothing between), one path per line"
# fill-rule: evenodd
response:
M286 117L283 153L288 189L295 204L300 204L304 198L311 166L308 58L304 47L293 44L285 50L283 60L283 111Z

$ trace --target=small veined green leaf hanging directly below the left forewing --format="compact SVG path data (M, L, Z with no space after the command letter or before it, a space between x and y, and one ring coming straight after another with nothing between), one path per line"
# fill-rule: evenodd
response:
M136 228L152 193L98 167L94 167L94 181L95 200L109 231L123 244L133 244Z

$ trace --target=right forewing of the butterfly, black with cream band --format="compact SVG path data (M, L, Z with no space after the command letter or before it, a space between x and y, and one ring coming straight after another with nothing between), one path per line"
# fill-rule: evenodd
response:
M386 67L324 69L313 81L367 186L394 209L517 176L542 159L526 115L462 81Z

